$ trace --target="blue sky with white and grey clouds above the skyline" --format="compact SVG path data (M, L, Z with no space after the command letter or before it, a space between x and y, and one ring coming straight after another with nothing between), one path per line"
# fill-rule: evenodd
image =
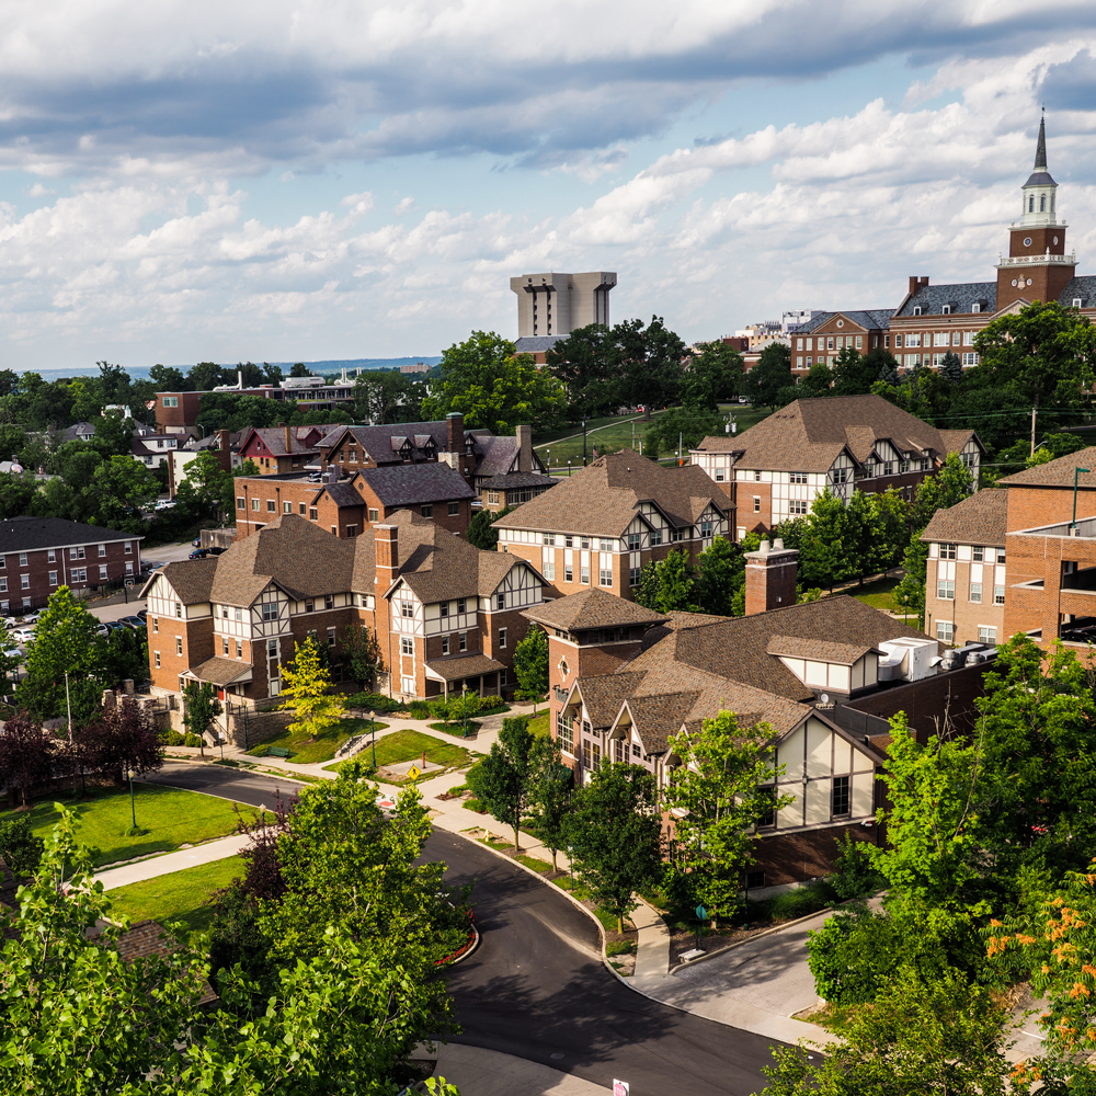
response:
M9 0L0 367L435 354L511 275L688 340L989 279L1039 106L1096 271L1096 8ZM1089 256L1092 256L1089 259Z

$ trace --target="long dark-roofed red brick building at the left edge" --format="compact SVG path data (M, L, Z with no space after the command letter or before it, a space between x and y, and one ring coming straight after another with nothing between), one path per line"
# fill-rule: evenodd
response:
M80 593L136 578L141 539L60 517L0 522L0 615L38 608L59 586Z

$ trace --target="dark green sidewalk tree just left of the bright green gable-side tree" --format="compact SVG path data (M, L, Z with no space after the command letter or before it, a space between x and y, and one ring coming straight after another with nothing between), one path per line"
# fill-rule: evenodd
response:
M639 765L602 765L575 789L568 827L571 863L594 902L617 918L636 909L632 892L662 875L662 819L654 777Z

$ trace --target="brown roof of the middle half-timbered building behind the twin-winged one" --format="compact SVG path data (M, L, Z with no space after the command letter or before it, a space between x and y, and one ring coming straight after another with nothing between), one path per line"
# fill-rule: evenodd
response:
M663 468L625 450L598 457L499 518L494 527L618 537L644 502L657 506L674 528L695 525L708 506L721 514L729 506L727 495L703 469Z

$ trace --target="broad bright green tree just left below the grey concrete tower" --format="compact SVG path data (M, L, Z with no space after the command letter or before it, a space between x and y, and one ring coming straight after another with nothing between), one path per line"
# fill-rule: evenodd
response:
M538 369L532 355L515 354L514 344L493 331L473 331L466 342L443 351L441 370L441 383L423 400L427 419L460 411L466 429L495 434L513 434L518 423L546 431L562 422L563 386L547 369Z

